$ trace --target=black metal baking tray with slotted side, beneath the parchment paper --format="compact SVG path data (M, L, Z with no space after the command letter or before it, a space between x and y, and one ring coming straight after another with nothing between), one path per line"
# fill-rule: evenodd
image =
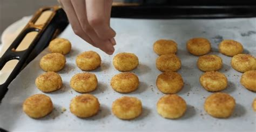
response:
M165 1L166 2L166 1ZM56 7L56 6L55 6ZM35 14L36 19L45 10L53 8L43 8ZM144 18L144 19L216 19L216 18L247 18L256 17L256 1L213 1L199 0L194 1L168 1L163 4L158 1L150 3L149 1L141 1L139 4L122 4L112 6L111 17L114 18ZM19 74L19 72L35 58L42 50L49 45L49 42L55 38L58 33L62 32L68 25L68 18L62 9L55 10L54 16L48 21L43 28L35 28L26 26L24 30L17 36L11 46L6 50L0 58L0 70L4 64L12 59L19 60L15 69L6 82L0 85L0 103L8 91L8 85ZM32 41L28 49L22 52L15 52L24 36L31 32L40 32ZM18 86L17 86L18 89ZM1 105L1 104L0 104ZM0 126L1 127L1 126ZM0 128L0 131L5 131Z

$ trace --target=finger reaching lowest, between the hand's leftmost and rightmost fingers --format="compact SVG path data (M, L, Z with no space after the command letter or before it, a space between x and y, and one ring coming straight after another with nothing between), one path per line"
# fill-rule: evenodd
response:
M82 27L82 30L92 39L92 41L95 43L95 47L100 48L107 54L113 54L114 48L109 40L103 40L98 37L95 30L89 25L87 21L86 16L86 3L82 0L71 0L71 3L75 10L75 13L77 15L78 21L80 23L80 26Z

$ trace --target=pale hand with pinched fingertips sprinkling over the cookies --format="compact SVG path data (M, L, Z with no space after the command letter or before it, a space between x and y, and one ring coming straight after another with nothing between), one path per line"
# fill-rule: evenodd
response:
M112 0L59 0L73 31L91 45L112 55L116 32L110 27Z

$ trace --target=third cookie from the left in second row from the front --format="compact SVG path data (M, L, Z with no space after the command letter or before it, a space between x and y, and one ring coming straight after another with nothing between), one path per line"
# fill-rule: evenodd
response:
M136 90L139 86L139 78L131 72L124 72L114 75L110 85L113 90L120 93L129 93Z

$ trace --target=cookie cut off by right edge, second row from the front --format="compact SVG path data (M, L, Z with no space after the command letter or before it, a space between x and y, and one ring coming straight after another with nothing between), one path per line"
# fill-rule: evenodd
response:
M256 70L246 71L242 74L240 83L248 90L256 92Z

